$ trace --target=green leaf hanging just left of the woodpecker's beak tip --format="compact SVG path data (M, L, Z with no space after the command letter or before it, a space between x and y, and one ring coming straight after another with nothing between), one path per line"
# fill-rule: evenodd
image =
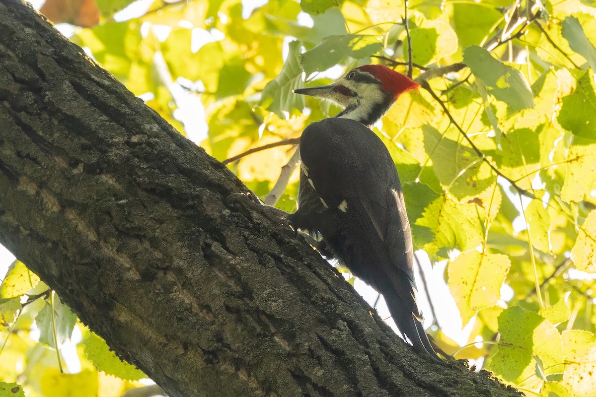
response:
M288 56L280 75L267 83L261 94L259 105L274 112L280 118L284 117L284 112L297 114L304 108L304 96L292 92L292 90L304 86L299 60L300 48L302 48L302 43L299 41L294 40L290 43Z

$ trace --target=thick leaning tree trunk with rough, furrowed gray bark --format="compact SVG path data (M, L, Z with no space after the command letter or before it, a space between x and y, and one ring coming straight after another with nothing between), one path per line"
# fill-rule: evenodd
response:
M0 0L0 242L170 396L519 396L418 357L221 163Z

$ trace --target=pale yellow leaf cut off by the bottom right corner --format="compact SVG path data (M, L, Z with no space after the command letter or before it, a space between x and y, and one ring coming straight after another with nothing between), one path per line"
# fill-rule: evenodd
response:
M596 335L583 330L563 331L563 385L579 396L596 396Z

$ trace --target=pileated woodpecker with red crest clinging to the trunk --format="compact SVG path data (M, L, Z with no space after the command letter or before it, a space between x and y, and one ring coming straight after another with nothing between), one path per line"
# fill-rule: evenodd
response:
M383 65L294 93L330 99L344 110L310 124L300 138L298 210L294 227L321 236L325 250L383 294L402 335L417 351L434 352L416 303L408 215L395 164L372 126L407 90L420 85Z

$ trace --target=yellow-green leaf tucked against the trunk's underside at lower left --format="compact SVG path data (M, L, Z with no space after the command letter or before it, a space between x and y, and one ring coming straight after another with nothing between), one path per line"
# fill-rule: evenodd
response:
M139 380L147 377L141 370L120 360L116 353L110 351L107 343L95 333L89 333L89 337L83 340L82 344L85 346L87 358L98 370L125 380Z

